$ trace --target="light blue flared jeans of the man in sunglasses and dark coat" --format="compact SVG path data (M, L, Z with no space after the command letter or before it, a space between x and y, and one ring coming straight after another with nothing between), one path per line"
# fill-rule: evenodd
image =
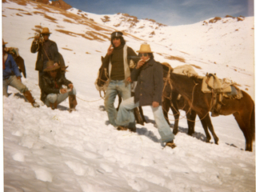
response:
M129 123L134 122L133 110L139 106L139 102L134 103L134 97L126 99L119 106L118 115L116 118L116 124L118 126L128 126ZM171 142L174 140L174 134L170 131L170 126L166 122L162 114L162 106L153 107L151 109L154 114L154 121L158 126L158 133L162 138L162 142Z

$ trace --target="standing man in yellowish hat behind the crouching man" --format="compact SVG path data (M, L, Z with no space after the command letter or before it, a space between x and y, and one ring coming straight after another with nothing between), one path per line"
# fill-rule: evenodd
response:
M33 54L38 52L35 70L38 70L38 86L42 90L42 74L43 70L46 69L46 62L53 61L54 63L58 63L59 55L56 42L49 39L50 30L47 27L42 28L41 34L43 39L40 39L40 37L34 38L30 51Z

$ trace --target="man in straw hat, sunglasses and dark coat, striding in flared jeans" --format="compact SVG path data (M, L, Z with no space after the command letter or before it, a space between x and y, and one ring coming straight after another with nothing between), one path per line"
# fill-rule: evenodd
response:
M127 126L134 122L132 110L135 107L151 106L162 142L166 142L166 146L174 148L174 134L170 131L170 126L162 114L162 66L159 62L154 61L150 45L142 44L137 52L141 60L132 71L131 80L138 82L134 97L126 99L119 106L115 121L118 130L127 130Z

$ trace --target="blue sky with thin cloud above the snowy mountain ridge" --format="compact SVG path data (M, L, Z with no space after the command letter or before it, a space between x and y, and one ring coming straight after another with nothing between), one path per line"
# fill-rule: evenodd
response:
M130 14L168 26L201 22L208 18L254 16L253 0L64 0L79 10L94 14Z

